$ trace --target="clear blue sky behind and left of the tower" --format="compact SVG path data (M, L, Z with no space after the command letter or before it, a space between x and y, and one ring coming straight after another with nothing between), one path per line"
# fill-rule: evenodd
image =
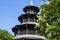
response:
M12 33L12 27L20 24L18 16L23 14L23 8L29 5L31 0L0 0L0 29ZM41 0L32 0L34 5L40 7ZM45 1L47 2L47 0Z

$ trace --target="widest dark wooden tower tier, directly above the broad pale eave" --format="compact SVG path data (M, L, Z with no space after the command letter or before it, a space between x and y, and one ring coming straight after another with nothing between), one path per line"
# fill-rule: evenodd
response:
M31 34L31 35L39 35L39 29L34 28L35 24L21 24L16 25L12 28L12 31L16 35L24 35L24 34Z

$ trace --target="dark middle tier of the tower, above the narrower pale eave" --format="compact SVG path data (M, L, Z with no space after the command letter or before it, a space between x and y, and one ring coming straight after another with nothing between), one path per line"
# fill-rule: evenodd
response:
M36 22L38 19L36 14L23 14L18 17L18 20L23 23L23 22Z

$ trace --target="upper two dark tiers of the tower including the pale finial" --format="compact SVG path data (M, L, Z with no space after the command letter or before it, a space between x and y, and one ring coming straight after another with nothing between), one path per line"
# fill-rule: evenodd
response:
M21 23L25 23L25 22L36 22L36 20L38 19L38 15L37 13L39 12L39 8L33 5L33 2L30 2L30 5L25 6L23 8L23 11L26 14L20 15L18 17L18 20Z

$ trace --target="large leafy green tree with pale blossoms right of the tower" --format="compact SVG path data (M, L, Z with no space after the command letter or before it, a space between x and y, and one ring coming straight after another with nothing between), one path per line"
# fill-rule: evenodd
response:
M60 0L49 0L49 4L41 5L36 27L47 40L60 40Z

